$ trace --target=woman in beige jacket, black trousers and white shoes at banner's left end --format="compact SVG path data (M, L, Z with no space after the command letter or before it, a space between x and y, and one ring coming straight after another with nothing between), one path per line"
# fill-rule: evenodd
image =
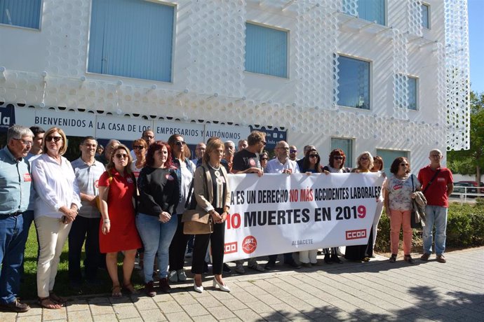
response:
M196 209L205 211L213 223L213 232L196 235L194 243L191 272L194 275L194 290L203 292L202 273L205 265L205 255L208 242L212 248L213 286L230 292L222 281L222 265L224 263L225 221L229 215L230 188L227 171L220 165L224 155L224 144L220 139L208 141L206 153L203 155L203 165L198 167L194 175L194 196Z

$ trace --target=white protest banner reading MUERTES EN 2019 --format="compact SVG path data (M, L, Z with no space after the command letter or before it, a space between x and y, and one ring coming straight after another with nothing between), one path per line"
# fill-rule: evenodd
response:
M224 261L366 244L383 180L377 173L229 175Z

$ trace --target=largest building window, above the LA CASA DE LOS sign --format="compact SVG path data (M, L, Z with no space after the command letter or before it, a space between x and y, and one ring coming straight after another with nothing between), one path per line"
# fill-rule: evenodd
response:
M93 0L88 71L171 81L175 7L144 0Z

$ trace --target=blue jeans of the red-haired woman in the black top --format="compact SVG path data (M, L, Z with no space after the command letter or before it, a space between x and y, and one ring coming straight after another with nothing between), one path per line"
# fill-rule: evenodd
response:
M170 221L161 223L158 216L137 214L136 227L144 245L144 283L153 281L153 265L158 252L158 269L160 278L168 275L168 249L171 239L177 230L178 218L173 214Z

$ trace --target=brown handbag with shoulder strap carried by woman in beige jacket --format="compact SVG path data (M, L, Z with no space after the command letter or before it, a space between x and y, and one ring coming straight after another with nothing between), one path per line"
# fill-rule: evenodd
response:
M203 167L203 166L202 166ZM205 235L213 232L212 216L208 212L196 209L196 199L194 196L194 181L190 183L185 211L182 214L184 235ZM207 188L205 168L203 168L203 182ZM207 191L207 189L206 189Z

